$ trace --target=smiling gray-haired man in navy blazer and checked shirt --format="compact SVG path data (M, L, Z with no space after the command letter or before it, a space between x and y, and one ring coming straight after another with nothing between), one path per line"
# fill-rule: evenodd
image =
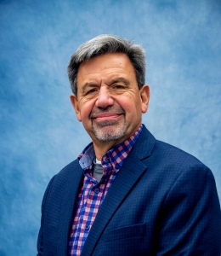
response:
M77 49L68 74L92 143L48 184L38 255L220 255L212 172L141 124L144 50L101 35Z

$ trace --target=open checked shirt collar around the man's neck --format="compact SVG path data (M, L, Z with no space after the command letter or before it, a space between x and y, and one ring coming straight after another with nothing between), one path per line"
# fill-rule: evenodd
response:
M133 148L134 143L136 143L139 135L143 129L143 125L139 126L139 129L133 133L131 137L128 137L126 141L116 145L111 148L101 157L102 166L105 165L107 161L110 161L113 169L118 171L126 160L127 155ZM82 153L78 156L79 164L83 170L91 167L95 158L94 145L89 143L86 148L83 149Z

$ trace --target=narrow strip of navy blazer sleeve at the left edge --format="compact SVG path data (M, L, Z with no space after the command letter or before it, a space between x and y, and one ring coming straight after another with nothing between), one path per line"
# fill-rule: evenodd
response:
M54 176L55 177L55 176ZM48 198L48 193L49 190L52 187L52 183L54 181L54 177L50 180L50 182L48 183L48 187L45 190L45 193L43 195L43 199L42 199L42 218L41 218L41 227L38 233L38 238L37 238L37 256L43 256L43 227L44 227L44 209L45 209L45 204Z

